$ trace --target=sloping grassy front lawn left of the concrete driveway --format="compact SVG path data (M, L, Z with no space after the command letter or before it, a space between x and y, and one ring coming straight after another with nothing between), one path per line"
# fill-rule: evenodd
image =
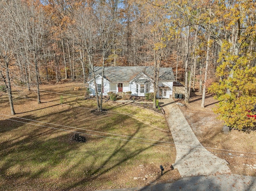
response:
M94 100L71 96L82 96L85 92L85 89L72 91L75 85L69 83L42 87L47 91L70 94L62 95L62 105L60 95L54 93L42 91L42 102L48 102L37 104L36 100L27 99L36 98L36 92L23 89L14 92L14 108L18 114L12 117L0 116L0 190L109 189L143 186L179 178L176 170L170 171L170 165L176 157L174 145L131 138L173 142L170 133L146 124L146 121L156 120L158 114L149 110L145 114L145 110L136 106L106 102L104 108L107 111L126 111L147 118L136 120L134 116L110 112L95 115L90 110L96 108ZM0 113L10 114L6 95L0 96ZM161 119L154 122L154 126L163 128L167 125ZM73 133L69 131L84 133L82 135L86 136L87 141L78 143L70 140ZM139 167L141 164L144 168ZM164 176L160 175L159 165L166 169ZM134 177L145 175L149 175L146 181L134 180Z

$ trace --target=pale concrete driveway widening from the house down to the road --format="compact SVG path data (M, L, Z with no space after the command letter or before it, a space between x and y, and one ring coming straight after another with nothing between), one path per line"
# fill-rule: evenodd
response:
M161 100L176 147L173 164L182 177L230 173L228 162L202 146L172 98Z

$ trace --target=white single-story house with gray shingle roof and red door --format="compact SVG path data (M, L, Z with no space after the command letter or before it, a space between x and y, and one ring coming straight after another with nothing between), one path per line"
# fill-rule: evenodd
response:
M146 93L154 92L153 67L140 66L117 66L105 67L103 77L103 95L108 92L125 93L132 92L133 96L145 96ZM96 87L101 92L102 67L94 67ZM172 68L161 67L159 71L158 98L170 98L172 96L173 82L175 81ZM95 95L95 85L92 73L89 74L87 83L90 95Z

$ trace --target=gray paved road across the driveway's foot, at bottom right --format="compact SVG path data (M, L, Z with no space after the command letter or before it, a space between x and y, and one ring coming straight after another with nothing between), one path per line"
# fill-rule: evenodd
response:
M183 177L174 183L105 191L256 191L256 177L235 174Z

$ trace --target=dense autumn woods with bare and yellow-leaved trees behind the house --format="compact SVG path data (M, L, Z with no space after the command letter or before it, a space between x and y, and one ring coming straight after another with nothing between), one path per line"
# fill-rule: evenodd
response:
M85 83L94 66L103 73L152 66L155 82L159 67L172 67L185 102L199 87L204 107L215 82L218 112L246 115L256 104L255 7L255 0L0 0L0 85L15 114L11 84L37 87L40 103L42 81Z

